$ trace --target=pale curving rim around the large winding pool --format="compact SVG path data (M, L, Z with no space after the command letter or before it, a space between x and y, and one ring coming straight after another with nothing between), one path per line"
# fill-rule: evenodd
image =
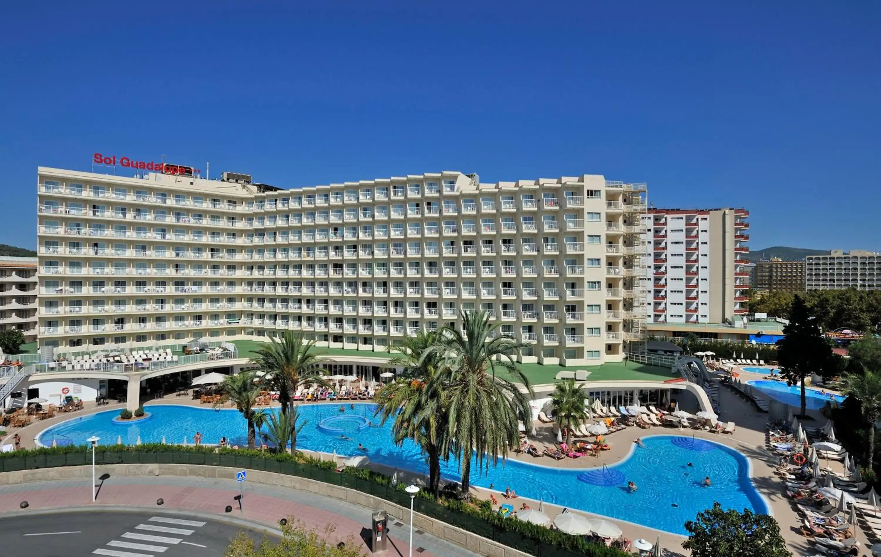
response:
M362 403L354 403L354 404L356 404L356 405L370 405L370 404L372 404L372 403L362 402ZM239 412L239 411L238 411L237 409L235 409L235 408L201 408L201 407L199 407L199 406L179 405L179 404L167 404L167 405L166 405L166 404L163 404L163 405L155 405L155 406L157 406L157 407L158 407L158 406L175 406L175 407L179 407L179 408L187 408L187 409L191 409L191 410L205 411L205 412L209 412L209 411L211 411L211 412L237 412L237 413ZM93 413L91 413L91 414L87 414L87 416L96 416L96 415L98 415L98 414L100 414L100 413L104 413L104 412L116 412L116 411L115 411L115 410L105 410L105 411L100 411L100 412L93 412ZM73 420L78 420L78 419L81 419L81 418L84 418L84 417L85 417L85 416L71 417L71 418L68 419L68 420L63 420L63 421L60 421L60 422L58 422L58 423L56 423L56 424L54 424L54 425L52 425L52 426L49 426L49 427L44 428L44 429L43 429L39 434L37 434L36 437L34 438L34 442L35 442L35 444L37 444L39 447L46 447L46 445L43 445L41 442L39 442L39 438L41 437L42 434L45 434L49 429L52 429L53 427L58 427L58 426L61 426L62 424L68 423L68 422L73 421ZM658 434L640 435L640 439L650 439L650 438L655 438L655 437L658 437L658 438L668 437L668 438L671 438L671 439L672 439L672 438L675 438L675 437L683 437L683 438L685 438L685 439L690 439L690 438L693 437L693 435L692 435L692 436L689 436L689 435L673 434L673 433L658 433ZM717 446L720 447L722 450L724 450L725 452L727 452L727 453L729 453L730 455L732 455L732 456L738 461L738 463L740 463L740 464L745 464L745 467L744 467L744 468L745 468L745 470L744 470L745 478L747 479L747 481L748 481L748 485L749 485L749 487L751 488L751 493L746 493L746 492L744 491L744 495L745 495L746 498L751 502L751 506L754 508L754 509L753 509L754 512L756 512L757 514L765 514L765 515L768 515L768 516L774 516L774 511L773 511L773 509L772 509L772 507L771 507L771 503L770 503L770 501L767 499L767 497L766 497L765 494L762 494L762 493L759 491L758 487L756 486L756 482L755 482L755 479L756 479L756 476L755 476L756 468L755 468L755 466L754 466L753 463L752 463L752 459L751 459L750 457L747 457L747 456L746 456L743 452L741 452L740 450L738 450L738 449L736 449L736 448L734 448L734 447L731 447L731 446L729 446L729 445L727 445L727 444L725 444L725 443L723 443L723 442L719 442L719 441L711 440L711 439L706 439L706 438L704 438L704 437L700 437L700 440L701 440L701 441L705 441L705 442L712 443L712 444L714 444L714 445L717 445ZM167 443L167 444L184 446L184 445L182 445L181 443ZM214 444L210 444L210 443L203 443L203 445L206 446L206 447L216 446L216 445L214 445ZM113 445L109 445L109 446L112 447ZM621 465L621 464L625 464L630 458L633 457L633 455L635 454L636 450L639 449L639 448L640 448L640 447L637 445L636 442L630 442L630 448L627 450L627 453L626 453L626 455L625 455L624 457L620 458L618 461L616 461L616 462L614 462L614 463L611 463L611 464L605 464L605 466L612 467L612 466L619 466L619 465ZM308 453L311 453L311 454L314 454L314 455L322 455L322 456L327 456L327 457L331 457L331 456L332 456L332 453L323 452L323 451L319 451L319 450L315 450L315 449L300 449L300 450L303 450L304 452L308 452ZM337 452L337 457L349 457L349 456L352 456L352 455L344 455L344 454L342 454L342 453ZM560 468L560 467L556 467L556 466L547 466L547 465L544 465L544 464L537 464L537 463L533 463L533 462L529 462L529 461L525 461L525 460L512 459L512 458L507 458L504 462L502 462L502 464L500 465L500 467L504 468L509 462L515 462L515 463L517 463L518 465L519 465L519 464L522 464L522 465L525 465L525 466L531 466L531 467L536 467L536 468L543 468L543 469L545 469L545 470L550 470L550 471L554 471L554 472L567 472L567 473L570 473L570 472L571 472L571 473L588 472L588 471L591 471L591 470L600 470L600 469L603 468L603 465L599 465L599 466L589 466L589 467L585 467L585 468L568 468L568 467L566 467L566 468ZM396 468L397 470L402 470L402 471L405 471L405 472L410 472L410 473L412 473L412 474L423 474L423 472L416 471L416 470L411 470L410 468L405 467L405 466L392 466L392 465L389 465L389 464L381 464L381 463L371 463L371 464L374 464L374 465L376 465L376 466L381 466L381 467L383 467L383 468L389 468L389 469L390 469L390 468ZM423 475L424 475L424 474L423 474ZM451 479L451 480L453 480L453 479ZM455 480L453 480L453 481L455 481ZM484 487L484 486L474 486L474 487L476 487L476 488L478 488L478 489L481 489L481 490L484 490L484 491L487 492L487 493L494 493L494 494L502 494L502 493L503 493L503 492L501 492L501 491L499 491L499 490L489 489L489 488ZM539 500L537 500L537 499L532 499L532 498L527 497L527 496L521 496L520 498L522 498L522 499L528 499L529 501L536 501L536 502L539 501ZM545 501L545 502L547 502L547 501ZM757 504L757 503L760 503L761 507L764 507L764 509L759 509L759 508L758 508L758 507L759 507L759 504ZM557 503L552 503L552 502L547 502L547 504L551 504L551 505L555 505L555 506L560 506L560 505L558 505ZM620 523L620 524L629 524L629 525L636 526L636 527L640 527L640 528L646 528L646 529L648 529L648 530L650 530L650 531L656 531L656 532L663 533L663 534L667 534L667 535L673 535L673 536L679 536L679 537L681 537L681 538L687 538L687 535L685 535L685 534L683 534L683 533L680 533L680 532L677 532L677 531L663 530L662 528L656 528L656 527L654 527L654 526L650 526L650 525L648 525L648 524L640 524L640 523L636 523L636 522L633 522L633 521L629 521L629 520L626 520L626 519L623 519L623 518L618 518L618 517L615 517L615 516L603 515L603 514L601 514L601 513L598 513L598 512L596 512L596 511L592 511L592 510L589 510L589 509L581 509L580 507L569 506L568 508L569 508L569 509L577 510L577 511L579 511L579 512L581 512L581 513L583 513L583 514L589 515L589 516L601 516L601 517L603 517L604 519L608 519L608 520L610 520L610 521L612 521L612 522L616 522L616 523ZM738 510L739 510L739 509L738 509Z

